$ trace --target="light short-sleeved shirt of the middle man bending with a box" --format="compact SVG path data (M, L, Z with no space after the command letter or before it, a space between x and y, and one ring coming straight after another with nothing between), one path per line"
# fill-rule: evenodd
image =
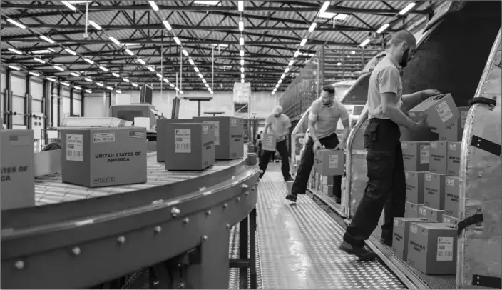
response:
M312 102L309 111L309 120L315 121L314 129L317 139L324 138L337 131L339 119L342 121L349 120L349 112L337 99L333 99L329 106L324 106L321 98Z

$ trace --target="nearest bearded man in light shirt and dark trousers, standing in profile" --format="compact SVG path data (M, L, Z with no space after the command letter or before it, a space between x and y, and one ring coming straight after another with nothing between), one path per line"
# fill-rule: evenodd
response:
M415 37L409 31L396 32L388 53L376 64L369 78L366 104L369 124L364 131L364 148L368 151L368 183L356 214L347 227L344 241L339 246L342 251L362 260L376 258L373 251L364 249L364 241L376 228L382 209L385 208L381 241L388 246L392 244L394 217L404 216L406 184L399 125L414 131L430 129L425 119L418 123L411 121L401 109L411 109L430 96L439 94L436 90L425 90L401 98L399 66L406 66L415 48Z

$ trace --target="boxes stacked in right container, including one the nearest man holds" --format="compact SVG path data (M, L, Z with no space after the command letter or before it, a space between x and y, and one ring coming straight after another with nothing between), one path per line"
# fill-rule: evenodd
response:
M450 94L432 97L409 112L427 116L434 141L402 142L406 178L404 218L394 219L393 251L424 274L456 273L459 170L468 108Z

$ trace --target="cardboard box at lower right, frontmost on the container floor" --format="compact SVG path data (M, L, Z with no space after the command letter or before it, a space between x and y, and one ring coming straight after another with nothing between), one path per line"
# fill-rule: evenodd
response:
M456 226L411 223L408 264L427 275L456 274Z

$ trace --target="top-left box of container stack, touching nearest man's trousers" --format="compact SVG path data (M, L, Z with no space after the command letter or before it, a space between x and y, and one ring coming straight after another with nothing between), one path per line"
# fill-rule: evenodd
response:
M404 171L429 171L429 142L401 142Z

